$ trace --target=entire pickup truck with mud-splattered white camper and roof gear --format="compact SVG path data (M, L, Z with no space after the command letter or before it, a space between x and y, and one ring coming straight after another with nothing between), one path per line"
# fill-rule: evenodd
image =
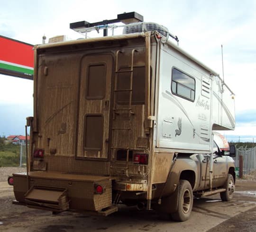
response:
M85 38L34 48L27 173L9 178L13 203L98 215L137 205L185 221L193 196L232 199L235 150L213 131L235 128L234 94L219 74L136 12L70 27Z

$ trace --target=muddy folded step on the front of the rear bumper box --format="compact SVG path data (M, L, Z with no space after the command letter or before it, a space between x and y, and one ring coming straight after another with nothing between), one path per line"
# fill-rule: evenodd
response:
M33 186L25 194L28 207L62 212L69 209L67 189Z

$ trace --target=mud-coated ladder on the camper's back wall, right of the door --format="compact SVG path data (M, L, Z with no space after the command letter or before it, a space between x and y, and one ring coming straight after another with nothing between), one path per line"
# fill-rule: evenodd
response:
M133 49L131 52L131 66L130 69L128 70L119 70L119 53L123 53L124 50L118 50L116 52L116 65L115 65L115 78L114 78L114 90L113 90L113 120L115 120L116 115L119 114L118 112L129 112L129 119L130 116L134 114L134 112L132 112L132 84L133 84L133 67L134 67L134 53L138 52L137 49ZM129 82L130 82L130 86L128 89L118 89L118 75L119 73L130 73L129 76ZM123 108L123 109L118 109L117 108L117 94L120 92L128 92L129 93L129 102L128 102L128 108ZM112 128L113 130L131 130L131 128ZM111 165L110 168L116 168L116 169L123 169L126 172L126 176L128 177L128 161L129 161L129 151L130 148L129 147L111 147L111 151L113 151L113 149L122 149L126 151L126 166L125 167L119 167L119 166L113 166Z

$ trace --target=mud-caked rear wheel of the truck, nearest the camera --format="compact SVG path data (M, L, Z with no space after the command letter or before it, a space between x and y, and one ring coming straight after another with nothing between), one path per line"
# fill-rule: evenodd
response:
M180 180L178 188L178 209L171 216L175 221L184 222L189 219L192 211L193 191L187 180Z

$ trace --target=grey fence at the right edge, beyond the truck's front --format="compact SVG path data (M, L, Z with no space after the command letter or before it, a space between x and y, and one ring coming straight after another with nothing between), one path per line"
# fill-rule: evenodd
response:
M236 148L236 157L234 158L236 170L239 168L239 156L243 156L243 174L249 174L256 170L256 147Z

